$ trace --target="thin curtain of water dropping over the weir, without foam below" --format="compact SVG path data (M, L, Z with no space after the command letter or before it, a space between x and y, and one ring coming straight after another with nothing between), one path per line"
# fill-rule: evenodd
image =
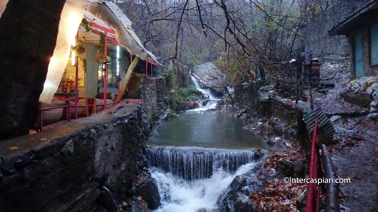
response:
M240 166L262 157L260 150L225 150L201 147L156 146L147 149L150 166L157 167L183 180L210 178L223 169L234 173Z

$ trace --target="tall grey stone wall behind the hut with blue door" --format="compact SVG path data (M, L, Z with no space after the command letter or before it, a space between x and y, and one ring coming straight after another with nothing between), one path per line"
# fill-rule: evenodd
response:
M327 30L369 2L370 0L341 0L333 6L331 4L324 12L320 10L318 19L311 20L302 28L302 34L306 37L300 38L297 46L304 44L305 52L313 51L316 57L349 55L348 38L345 35L329 36Z

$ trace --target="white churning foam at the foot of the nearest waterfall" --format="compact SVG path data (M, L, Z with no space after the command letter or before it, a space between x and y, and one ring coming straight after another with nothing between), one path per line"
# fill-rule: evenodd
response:
M253 168L256 162L248 163L230 174L218 169L211 178L185 181L157 168L150 168L152 177L158 184L161 206L154 212L197 212L198 209L212 211L217 208L217 199L228 189L237 175Z

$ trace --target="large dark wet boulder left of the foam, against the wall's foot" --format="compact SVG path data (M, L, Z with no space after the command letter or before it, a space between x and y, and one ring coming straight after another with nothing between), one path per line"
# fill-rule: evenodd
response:
M160 194L155 180L151 177L148 170L139 173L135 182L136 194L146 200L150 209L156 209L160 206Z

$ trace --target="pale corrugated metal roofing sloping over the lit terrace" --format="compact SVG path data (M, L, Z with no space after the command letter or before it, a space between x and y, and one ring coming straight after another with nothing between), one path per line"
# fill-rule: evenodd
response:
M122 25L124 26L124 28L126 29L127 32L129 32L129 34L134 38L134 40L136 41L136 43L138 43L138 45L144 49L144 51L150 56L150 58L155 61L156 63L158 63L159 65L161 65L157 60L156 60L156 57L155 55L152 54L152 52L150 51L147 51L146 48L144 48L144 46L142 45L142 42L141 40L139 40L139 37L138 35L135 34L133 28L131 27L132 26L132 22L129 20L129 18L126 17L126 15L122 12L121 9L119 9L119 7L115 4L115 3L112 3L112 2L105 2L104 0L101 0L101 2L105 3L105 5L113 12L114 15L116 15L118 17L118 19L121 21ZM162 66L162 65L161 65Z

